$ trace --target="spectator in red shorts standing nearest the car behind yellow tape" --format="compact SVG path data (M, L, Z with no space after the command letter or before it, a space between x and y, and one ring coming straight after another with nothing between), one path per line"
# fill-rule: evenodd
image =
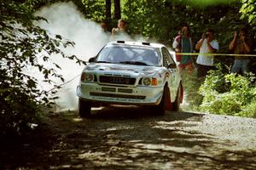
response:
M192 53L193 52L193 43L191 40L191 34L189 26L182 26L181 31L177 37L174 38L172 42L172 48L175 49L176 53ZM179 62L180 71L188 70L189 73L192 73L194 70L193 59L191 55L183 54L176 56L177 61Z

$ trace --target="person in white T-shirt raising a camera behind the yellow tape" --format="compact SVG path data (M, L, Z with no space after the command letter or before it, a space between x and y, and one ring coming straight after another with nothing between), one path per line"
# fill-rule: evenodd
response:
M213 39L213 30L207 29L206 33L202 35L201 40L196 43L195 49L199 50L197 56L197 77L206 77L207 72L214 70L214 57L210 54L218 51L218 42Z

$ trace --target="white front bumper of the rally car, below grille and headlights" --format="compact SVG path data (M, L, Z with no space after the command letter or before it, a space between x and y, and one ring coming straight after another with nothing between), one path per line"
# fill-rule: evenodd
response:
M119 105L159 105L163 87L104 86L93 82L82 82L77 87L80 99Z

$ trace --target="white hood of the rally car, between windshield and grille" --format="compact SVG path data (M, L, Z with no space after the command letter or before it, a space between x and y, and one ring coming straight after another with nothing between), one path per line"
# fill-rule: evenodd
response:
M160 72L163 68L147 65L123 65L123 64L105 64L93 63L87 65L84 71L104 72L104 74L130 74L130 75L154 75Z

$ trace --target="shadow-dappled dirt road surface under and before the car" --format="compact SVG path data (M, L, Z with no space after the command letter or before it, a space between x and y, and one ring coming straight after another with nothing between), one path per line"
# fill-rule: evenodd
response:
M256 120L113 106L52 113L34 140L1 152L0 169L256 169Z

